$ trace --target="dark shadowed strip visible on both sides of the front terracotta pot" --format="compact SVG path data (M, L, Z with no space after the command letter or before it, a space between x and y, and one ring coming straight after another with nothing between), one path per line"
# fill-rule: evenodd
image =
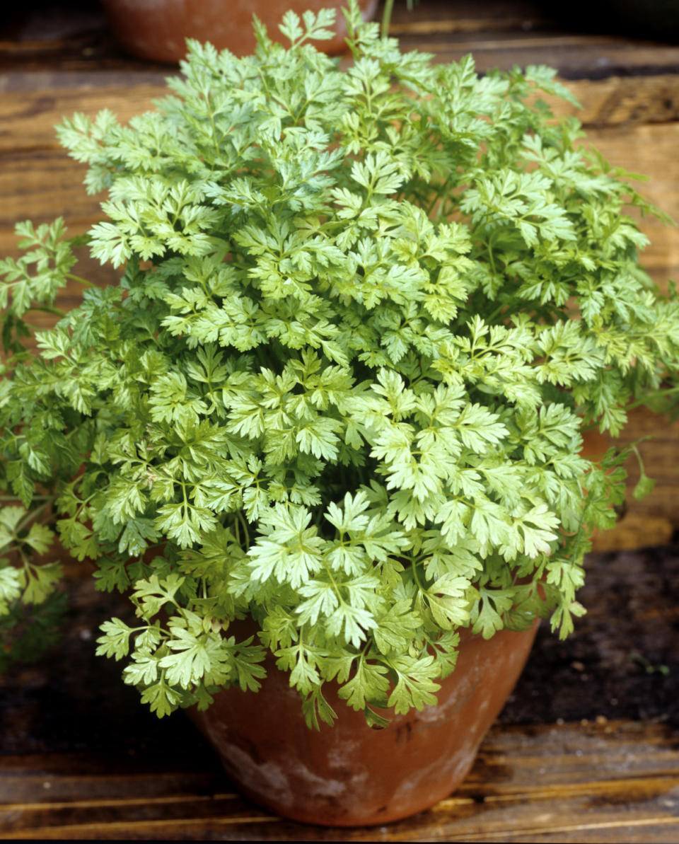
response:
M559 641L543 623L500 720L530 724L605 717L679 723L679 546L592 555L579 599L588 608ZM210 755L181 713L159 720L122 684L121 663L94 656L102 618L127 601L76 582L62 644L0 680L3 753L96 750L142 754L191 747Z

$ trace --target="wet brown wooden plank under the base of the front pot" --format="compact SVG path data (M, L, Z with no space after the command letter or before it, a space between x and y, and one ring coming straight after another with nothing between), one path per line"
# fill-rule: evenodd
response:
M53 784L32 799L5 800L3 838L671 841L679 830L677 737L657 724L495 727L455 795L415 818L373 829L278 820L219 791L219 782L212 793L197 793L188 777L176 783L140 776L133 763L127 781L111 777L102 759L100 773L74 779L70 792L64 782L62 776L58 797ZM104 797L107 786L118 796Z

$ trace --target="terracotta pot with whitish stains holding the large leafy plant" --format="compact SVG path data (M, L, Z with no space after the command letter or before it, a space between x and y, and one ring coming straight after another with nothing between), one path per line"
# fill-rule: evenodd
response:
M337 699L334 726L304 724L288 675L267 666L256 694L229 689L191 712L240 791L284 817L329 826L384 824L428 809L460 785L519 678L537 624L492 639L466 636L437 706L371 729ZM388 713L385 713L388 714Z

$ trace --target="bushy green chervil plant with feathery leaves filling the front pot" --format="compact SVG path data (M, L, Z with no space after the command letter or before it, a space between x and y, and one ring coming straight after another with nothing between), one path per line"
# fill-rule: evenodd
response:
M256 690L269 650L310 724L330 680L375 722L435 701L460 628L567 635L624 483L582 433L675 389L679 303L628 209L658 212L552 118L554 72L480 78L347 19L348 70L310 43L330 13L288 13L287 49L191 43L128 126L62 122L121 277L35 351L73 241L21 224L2 265L0 612L56 600L56 531L129 594L99 652L159 716Z

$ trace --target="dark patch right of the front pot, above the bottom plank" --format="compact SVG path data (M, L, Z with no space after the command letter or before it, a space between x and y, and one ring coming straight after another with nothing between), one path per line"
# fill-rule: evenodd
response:
M590 555L578 598L567 640L542 623L500 720L679 723L679 546Z

